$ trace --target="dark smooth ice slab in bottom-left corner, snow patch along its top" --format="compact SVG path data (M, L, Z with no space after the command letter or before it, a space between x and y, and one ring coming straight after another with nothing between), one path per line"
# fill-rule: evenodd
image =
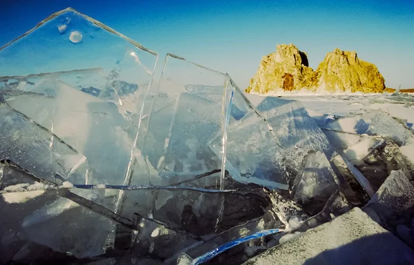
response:
M36 190L42 185L46 188L46 184L14 167L2 166L2 175L2 258L11 258L10 255L17 253L27 242L36 242L79 258L102 255L105 248L111 246L115 222L110 218L61 198L53 189ZM19 187L23 186L35 190L21 192Z

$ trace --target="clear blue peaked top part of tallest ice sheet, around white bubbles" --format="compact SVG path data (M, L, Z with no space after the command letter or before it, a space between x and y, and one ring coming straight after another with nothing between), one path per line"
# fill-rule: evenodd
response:
M81 41L73 43L72 32ZM156 52L72 8L51 14L0 50L2 76L103 67L109 77L138 85L148 85L157 59Z

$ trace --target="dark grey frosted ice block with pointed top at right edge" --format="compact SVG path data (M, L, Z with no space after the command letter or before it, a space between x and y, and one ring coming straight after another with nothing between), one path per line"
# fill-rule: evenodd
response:
M398 224L410 224L414 218L414 187L403 171L391 172L364 211L391 231Z

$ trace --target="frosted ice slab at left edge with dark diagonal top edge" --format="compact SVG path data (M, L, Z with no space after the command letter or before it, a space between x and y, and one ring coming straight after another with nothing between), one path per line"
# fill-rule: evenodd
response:
M0 120L1 159L11 160L39 178L57 184L86 181L89 168L86 156L51 131L4 101L0 103Z

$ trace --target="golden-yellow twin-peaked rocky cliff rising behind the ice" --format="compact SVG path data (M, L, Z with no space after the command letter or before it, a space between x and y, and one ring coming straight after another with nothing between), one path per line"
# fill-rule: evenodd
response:
M314 72L308 56L293 44L277 45L276 52L264 56L246 92L266 94L302 88L329 92L383 92L384 78L372 63L359 60L356 52L335 49Z

